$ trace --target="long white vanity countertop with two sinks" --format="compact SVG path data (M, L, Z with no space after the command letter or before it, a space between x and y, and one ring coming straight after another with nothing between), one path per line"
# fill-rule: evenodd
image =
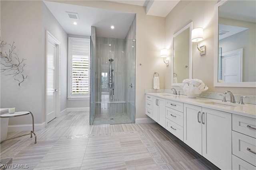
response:
M192 104L192 105L196 105L196 106L206 107L209 109L215 109L215 110L233 113L233 114L237 114L237 115L256 118L256 105L254 105L254 104L241 105L241 104L238 104L238 102L236 102L236 104L231 104L228 101L228 102L223 102L223 104L228 104L226 106L216 106L216 105L207 104L207 103L203 103L203 102L212 101L212 102L218 102L218 103L222 104L222 101L216 100L216 99L199 98L199 97L188 98L187 96L184 96L184 95L177 96L177 95L173 95L173 94L165 93L165 92L154 92L154 93L145 93L145 94L156 96L159 98L175 100L175 101L183 102L186 104ZM166 94L171 95L171 96L164 96ZM229 106L229 105L232 105L232 106Z

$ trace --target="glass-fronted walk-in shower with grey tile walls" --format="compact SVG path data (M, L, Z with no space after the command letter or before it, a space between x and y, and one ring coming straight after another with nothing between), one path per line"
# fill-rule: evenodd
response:
M135 123L136 41L91 39L90 125Z

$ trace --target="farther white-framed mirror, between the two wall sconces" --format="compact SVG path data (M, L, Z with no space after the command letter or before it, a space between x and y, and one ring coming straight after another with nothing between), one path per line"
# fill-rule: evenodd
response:
M192 29L190 22L172 37L172 86L180 86L184 79L192 78Z

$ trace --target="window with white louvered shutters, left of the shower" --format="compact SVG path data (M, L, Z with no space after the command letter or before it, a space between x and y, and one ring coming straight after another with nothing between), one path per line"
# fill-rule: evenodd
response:
M68 37L68 98L90 96L90 39Z

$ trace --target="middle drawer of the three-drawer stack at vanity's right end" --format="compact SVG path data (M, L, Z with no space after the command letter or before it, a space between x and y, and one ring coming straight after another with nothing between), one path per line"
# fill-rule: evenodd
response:
M232 154L256 166L256 139L232 131Z

